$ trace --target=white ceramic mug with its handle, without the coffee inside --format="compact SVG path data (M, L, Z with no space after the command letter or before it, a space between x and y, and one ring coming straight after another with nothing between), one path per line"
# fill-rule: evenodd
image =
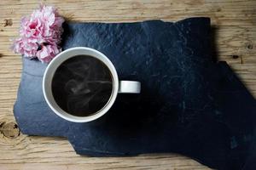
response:
M61 107L55 102L54 96L52 94L51 84L55 75L55 71L61 65L61 63L77 55L90 55L91 57L101 60L103 64L108 66L108 69L113 78L113 90L112 95L108 99L108 103L104 105L100 111L96 111L96 113L90 116L73 116L66 111L63 111ZM77 47L69 48L60 54L57 54L57 56L55 56L55 58L50 61L44 72L43 92L44 99L46 100L50 109L54 111L57 116L61 116L63 119L66 119L70 122L90 122L103 116L111 108L118 93L139 94L141 92L141 83L135 81L119 81L117 71L115 70L112 62L104 54L93 48Z

